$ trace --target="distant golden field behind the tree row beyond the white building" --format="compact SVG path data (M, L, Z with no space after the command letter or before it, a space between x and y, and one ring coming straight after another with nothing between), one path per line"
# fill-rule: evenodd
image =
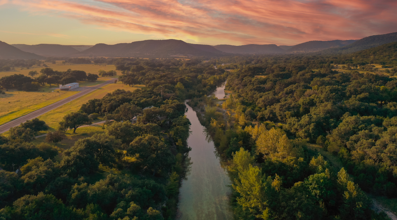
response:
M56 64L52 64L52 63L45 63L45 64L48 67L50 67L54 70L58 70L58 71L66 71L67 69L71 69L71 70L83 70L87 74L88 73L98 74L99 70L105 70L105 71L115 70L118 75L121 75L121 71L116 70L116 66L114 66L114 65L71 64L71 63L62 64L62 61L56 61ZM3 76L10 76L13 74L23 74L25 76L28 76L27 74L32 70L36 70L40 74L40 70L42 68L44 68L44 67L42 67L42 66L38 67L36 65L33 65L32 67L30 67L29 70L26 68L17 67L17 68L15 68L15 70L11 70L8 72L0 72L0 78Z

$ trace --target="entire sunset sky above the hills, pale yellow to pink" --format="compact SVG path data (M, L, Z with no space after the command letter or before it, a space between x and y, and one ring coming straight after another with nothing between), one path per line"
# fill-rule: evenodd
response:
M397 32L397 0L0 0L0 41L296 45Z

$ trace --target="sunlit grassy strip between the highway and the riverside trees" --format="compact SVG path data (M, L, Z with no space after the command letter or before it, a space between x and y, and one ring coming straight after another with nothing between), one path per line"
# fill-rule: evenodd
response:
M110 93L116 89L125 89L132 91L137 89L137 87L132 88L126 85L123 86L121 82L105 85L104 87L99 88L87 95L84 95L83 97L75 99L71 102L64 104L63 106L60 106L50 112L43 114L39 117L39 119L45 121L50 127L57 129L58 123L66 114L69 114L70 112L76 112L80 109L82 104L85 104L90 99L101 99L107 93Z

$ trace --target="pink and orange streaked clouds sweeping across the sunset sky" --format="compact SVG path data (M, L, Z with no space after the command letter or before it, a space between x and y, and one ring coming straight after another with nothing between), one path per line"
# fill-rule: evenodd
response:
M1 0L0 0L1 2ZM12 0L100 28L211 44L360 39L397 30L394 0Z

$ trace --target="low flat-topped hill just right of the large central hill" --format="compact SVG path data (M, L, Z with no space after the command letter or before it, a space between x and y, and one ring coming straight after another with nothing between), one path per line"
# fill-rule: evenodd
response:
M225 53L272 54L285 52L285 50L281 49L276 44L247 44L241 46L220 44L213 47Z

